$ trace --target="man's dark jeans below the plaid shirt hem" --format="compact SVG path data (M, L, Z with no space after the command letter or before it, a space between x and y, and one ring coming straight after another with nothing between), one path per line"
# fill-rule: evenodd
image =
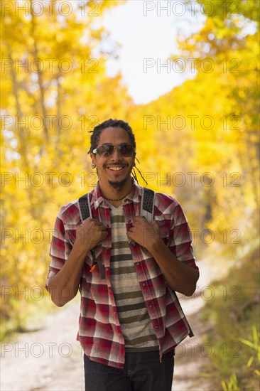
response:
M95 363L84 355L85 391L170 391L173 350L159 360L158 351L126 353L124 369Z

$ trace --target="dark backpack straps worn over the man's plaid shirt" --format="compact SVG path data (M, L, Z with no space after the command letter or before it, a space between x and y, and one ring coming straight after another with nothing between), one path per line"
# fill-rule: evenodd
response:
M153 222L153 209L154 209L154 203L155 203L155 192L149 188L142 188L142 194L141 194L141 212L140 215L148 221L148 223ZM90 198L89 198L89 193L82 195L79 200L79 210L80 210L80 218L83 223L84 220L87 218L92 218L92 212L90 208ZM92 257L93 257L93 262L97 262L101 278L105 279L105 274L104 274L104 265L100 260L96 260L96 257L94 256L94 252L92 251ZM178 304L180 305L180 301L178 299L178 296L176 295L175 291L172 289L173 294L175 296L175 299L178 301ZM182 310L181 306L180 309ZM183 310L182 310L183 311ZM184 314L183 314L184 315ZM185 317L185 316L184 316ZM187 319L186 319L187 321ZM187 321L188 323L188 321ZM190 328L190 325L188 323L188 326ZM193 331L190 328L190 333L189 337L193 337Z

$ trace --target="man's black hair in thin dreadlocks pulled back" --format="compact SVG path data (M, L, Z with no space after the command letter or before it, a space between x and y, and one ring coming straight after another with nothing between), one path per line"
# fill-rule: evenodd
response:
M134 137L134 133L133 133L133 130L131 129L130 125L127 122L122 121L121 119L110 118L110 119L107 119L106 121L102 122L101 124L98 124L96 127L94 127L94 129L92 131L90 131L90 133L92 133L92 135L90 136L90 151L88 151L88 154L92 153L92 151L95 148L97 148L97 144L99 142L99 137L100 137L102 130L107 129L108 127L114 127L114 128L120 127L121 129L124 129L126 131L126 133L129 135L131 145L134 146L134 149L136 149L136 139ZM135 156L135 159L139 163L139 160L136 158L136 156ZM136 167L136 169L137 169L137 171L139 171L139 168ZM134 171L133 176L136 179L136 182L138 183L134 167L133 167L133 171ZM141 177L143 178L141 171L139 171L139 173L140 173ZM143 178L143 181L146 182L146 180L144 178ZM147 185L147 182L146 182L146 185Z

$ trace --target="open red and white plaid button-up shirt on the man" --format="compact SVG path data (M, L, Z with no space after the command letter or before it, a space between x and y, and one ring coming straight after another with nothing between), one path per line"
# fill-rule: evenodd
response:
M132 178L131 193L123 201L126 230L133 219L140 215L141 187ZM105 279L101 279L99 268L92 273L92 253L85 259L80 277L80 320L77 340L90 360L124 368L124 336L117 314L112 285L110 282L110 255L112 235L109 205L105 202L99 184L90 191L92 218L102 221L108 235L100 245L94 247L97 260L104 264ZM180 262L188 264L198 272L191 245L192 237L187 220L177 200L163 193L156 193L154 219L159 226L163 242ZM77 200L64 205L55 221L53 240L50 247L50 272L52 277L63 267L75 242L76 227L81 224ZM164 353L175 348L190 333L175 292L168 286L160 267L151 254L137 243L129 247L141 286L143 301L158 338L160 360ZM47 282L48 285L48 282Z

